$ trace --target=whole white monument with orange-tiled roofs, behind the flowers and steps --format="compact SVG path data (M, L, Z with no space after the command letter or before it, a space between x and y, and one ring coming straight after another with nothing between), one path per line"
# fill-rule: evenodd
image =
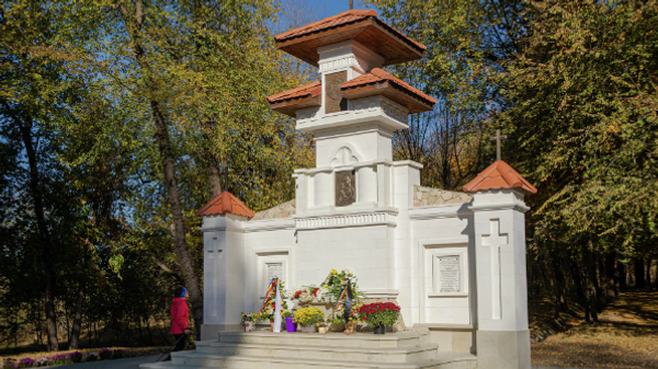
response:
M316 143L296 170L296 198L253 214L229 193L200 209L204 242L202 338L240 328L268 281L317 285L353 269L368 298L395 301L408 330L478 368L530 368L523 201L536 189L502 161L465 193L420 186L422 165L393 161L392 136L434 99L382 70L426 49L354 10L276 36L320 80L268 97Z

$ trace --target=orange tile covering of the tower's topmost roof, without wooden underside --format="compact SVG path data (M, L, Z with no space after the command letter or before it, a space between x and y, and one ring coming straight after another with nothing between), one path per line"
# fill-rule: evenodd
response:
M284 32L280 35L274 36L274 39L276 39L277 42L282 42L284 39L294 38L294 37L309 34L309 33L321 32L325 30L337 27L339 25L358 22L358 21L364 20L366 18L371 18L371 16L373 19L377 20L379 23L382 23L382 25L384 25L390 32L393 32L397 36L400 36L401 38L406 39L413 46L416 46L422 50L427 49L427 46L424 46L423 44L417 43L413 39L402 35L397 30L395 30L394 27L392 27L390 25L386 24L381 19L378 19L377 12L375 12L374 10L362 10L362 9L348 10L347 12L342 12L340 14L326 18L324 20L300 26L298 28L295 28L295 30L292 30L288 32Z

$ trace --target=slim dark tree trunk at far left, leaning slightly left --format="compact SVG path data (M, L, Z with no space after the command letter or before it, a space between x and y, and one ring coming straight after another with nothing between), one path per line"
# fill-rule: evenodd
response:
M30 163L30 191L34 201L34 214L36 216L36 223L42 241L41 257L44 270L44 300L46 312L46 330L48 334L46 347L48 351L56 351L58 349L58 343L57 313L55 311L54 289L57 284L57 279L55 278L55 268L53 265L53 243L50 240L50 233L48 232L48 227L46 224L44 199L42 197L38 181L39 174L36 152L32 143L32 118L26 118L24 122L16 123L19 123L21 126L23 145L25 146L25 152L27 153L27 161Z

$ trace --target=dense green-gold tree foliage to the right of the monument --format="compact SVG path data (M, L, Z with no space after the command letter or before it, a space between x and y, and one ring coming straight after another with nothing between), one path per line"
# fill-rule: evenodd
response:
M540 189L537 242L642 253L658 210L658 3L531 5L500 123Z

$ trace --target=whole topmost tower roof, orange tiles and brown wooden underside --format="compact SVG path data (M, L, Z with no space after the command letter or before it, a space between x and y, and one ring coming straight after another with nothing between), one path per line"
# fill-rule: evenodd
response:
M349 10L274 36L280 49L318 66L318 47L353 39L375 50L384 66L422 57L427 47L377 18L374 10Z

